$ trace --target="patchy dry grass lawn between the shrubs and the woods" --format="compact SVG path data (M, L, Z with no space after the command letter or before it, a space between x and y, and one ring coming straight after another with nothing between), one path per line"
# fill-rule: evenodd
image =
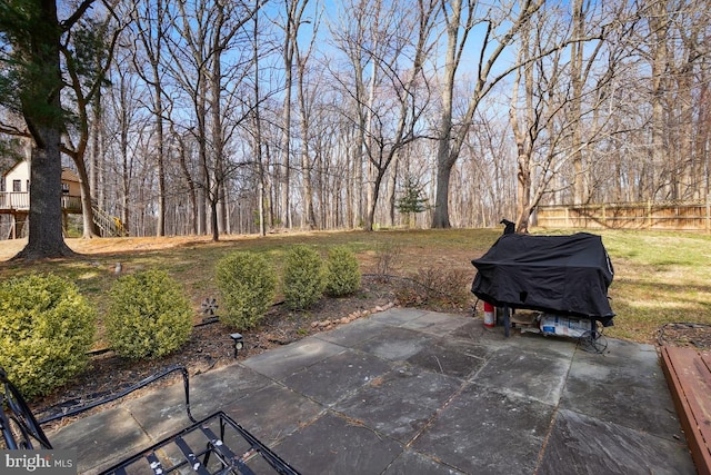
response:
M561 234L561 232L558 232ZM654 343L659 328L670 321L711 324L711 236L691 232L599 232L615 267L610 288L615 326L605 335ZM219 243L208 237L68 239L79 253L73 259L9 261L23 240L0 241L0 275L8 278L29 271L52 271L76 281L82 294L101 310L114 268L123 271L159 267L180 280L197 314L200 303L217 295L213 268L218 259L236 250L267 253L279 266L290 245L310 244L326 251L332 245L353 249L361 270L415 277L428 269L459 271L471 283L471 259L481 256L501 229L385 230L377 232L288 232L267 237L229 236ZM471 305L474 298L471 298Z

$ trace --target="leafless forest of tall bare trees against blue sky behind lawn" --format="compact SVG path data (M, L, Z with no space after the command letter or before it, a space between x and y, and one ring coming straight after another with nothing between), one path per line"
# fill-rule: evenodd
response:
M704 0L97 2L63 154L133 236L705 199L710 36Z

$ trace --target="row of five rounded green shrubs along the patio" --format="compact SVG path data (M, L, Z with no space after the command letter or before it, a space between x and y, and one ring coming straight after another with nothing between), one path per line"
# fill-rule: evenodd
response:
M216 277L221 320L236 329L257 326L276 296L274 266L261 254L233 253L218 263ZM326 260L301 245L287 254L282 287L289 308L307 309L323 293L342 296L359 286L358 261L346 247L331 248ZM109 297L103 324L109 344L120 356L162 357L190 337L190 301L162 270L124 275ZM2 281L0 315L0 367L26 397L48 394L86 368L97 316L73 283L51 274Z

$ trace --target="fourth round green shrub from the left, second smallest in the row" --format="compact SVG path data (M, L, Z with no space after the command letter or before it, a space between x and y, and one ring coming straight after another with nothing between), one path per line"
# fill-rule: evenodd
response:
M284 301L292 310L310 308L326 289L326 271L319 253L304 245L293 246L284 261Z

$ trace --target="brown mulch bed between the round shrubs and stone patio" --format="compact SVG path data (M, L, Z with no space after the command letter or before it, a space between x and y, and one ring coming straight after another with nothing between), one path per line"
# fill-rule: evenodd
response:
M239 353L239 359L382 311L393 306L394 301L392 283L364 276L361 288L354 295L343 298L324 297L307 311L292 311L283 304L277 304L264 315L259 328L240 331L244 337L244 348ZM171 365L184 365L191 376L226 366L234 363L234 346L230 338L230 334L234 331L219 320L199 324L180 350L160 359L130 360L110 350L96 354L87 370L53 394L32 402L30 406L41 419L119 393ZM178 377L176 375L163 384L177 380ZM151 385L149 389L151 388L154 389L156 385ZM137 393L133 397L140 394Z

